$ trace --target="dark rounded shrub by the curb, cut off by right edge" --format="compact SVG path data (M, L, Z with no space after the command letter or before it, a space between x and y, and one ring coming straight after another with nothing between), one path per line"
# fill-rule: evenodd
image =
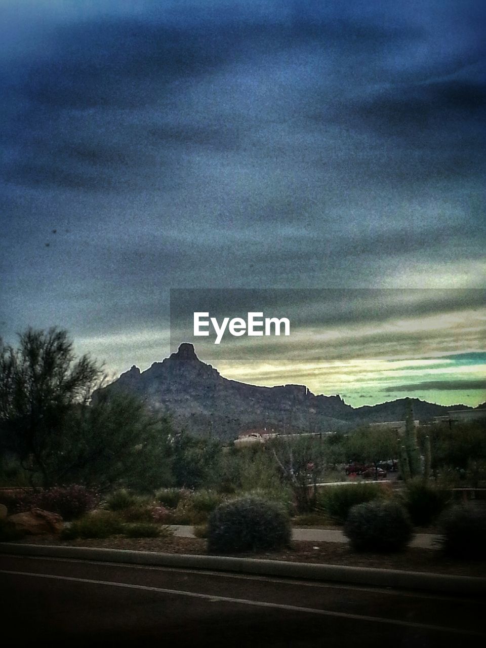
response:
M456 506L439 520L442 548L448 555L466 559L486 558L486 507Z

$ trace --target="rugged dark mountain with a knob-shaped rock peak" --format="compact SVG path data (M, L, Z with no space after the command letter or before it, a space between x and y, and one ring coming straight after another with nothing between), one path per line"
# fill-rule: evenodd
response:
M100 391L134 393L151 410L170 414L176 429L220 439L234 439L251 428L344 430L369 422L400 421L405 411L405 399L353 408L339 395L316 396L303 385L257 387L229 380L202 362L189 343L181 344L177 353L154 362L146 371L133 365ZM419 399L412 402L416 419L432 419L450 409Z

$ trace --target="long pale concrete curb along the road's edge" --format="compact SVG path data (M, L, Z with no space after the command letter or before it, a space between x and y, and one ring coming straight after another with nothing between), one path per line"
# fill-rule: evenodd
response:
M211 570L213 572L246 573L332 583L374 585L400 590L428 590L446 594L486 596L486 578L477 576L450 576L426 572L404 572L369 567L316 564L313 562L270 561L226 556L18 544L14 542L1 543L0 553Z

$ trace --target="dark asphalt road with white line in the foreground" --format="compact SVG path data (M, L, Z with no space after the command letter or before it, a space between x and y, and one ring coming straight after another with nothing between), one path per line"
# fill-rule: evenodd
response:
M0 637L40 645L484 645L486 601L231 573L0 555Z

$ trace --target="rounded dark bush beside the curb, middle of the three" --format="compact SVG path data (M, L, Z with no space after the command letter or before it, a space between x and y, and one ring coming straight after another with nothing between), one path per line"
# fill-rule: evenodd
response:
M356 551L400 551L412 537L410 518L397 502L378 500L357 504L349 511L345 535Z

